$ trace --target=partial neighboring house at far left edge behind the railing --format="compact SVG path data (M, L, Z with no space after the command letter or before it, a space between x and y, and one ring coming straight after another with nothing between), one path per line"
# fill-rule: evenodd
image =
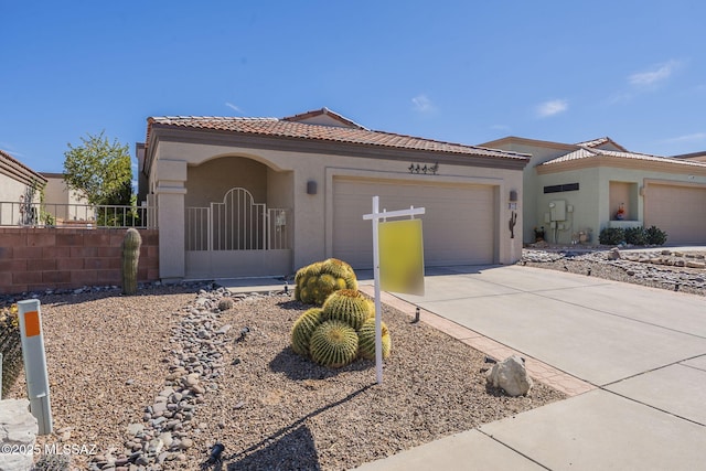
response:
M35 203L46 179L0 150L0 225L38 223Z

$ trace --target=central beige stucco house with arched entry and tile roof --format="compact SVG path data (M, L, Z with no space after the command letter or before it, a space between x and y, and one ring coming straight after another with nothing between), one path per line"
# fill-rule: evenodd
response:
M427 266L522 254L522 153L373 131L327 108L153 117L137 153L162 279L291 275L328 257L370 269L374 195L381 210L426 208Z

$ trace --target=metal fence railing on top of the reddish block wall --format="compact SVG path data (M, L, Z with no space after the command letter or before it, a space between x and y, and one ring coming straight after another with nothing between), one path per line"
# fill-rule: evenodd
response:
M0 226L156 228L157 208L0 201Z

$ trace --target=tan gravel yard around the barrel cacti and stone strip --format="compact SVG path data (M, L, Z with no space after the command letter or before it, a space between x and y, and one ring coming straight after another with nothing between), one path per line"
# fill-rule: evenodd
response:
M146 407L171 384L181 351L174 327L195 298L161 288L42 299L55 432L38 442L95 443L98 458L71 457L76 469L130 469L120 459L131 451L126 429L146 422ZM214 328L232 325L221 336L224 366L204 381L207 392L180 431L189 447L137 469L200 469L215 442L225 446L218 469L350 469L564 398L538 383L514 398L489 388L483 354L388 308L393 354L382 385L374 362L317 366L289 346L307 308L290 296L250 296L221 312ZM24 392L20 377L10 397Z

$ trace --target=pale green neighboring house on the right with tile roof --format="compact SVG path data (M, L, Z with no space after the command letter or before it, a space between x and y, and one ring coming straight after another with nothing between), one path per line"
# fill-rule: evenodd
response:
M549 243L597 244L606 227L654 225L668 244L706 244L706 162L629 152L610 138L566 144L507 137L482 146L532 154L525 243L541 227Z

